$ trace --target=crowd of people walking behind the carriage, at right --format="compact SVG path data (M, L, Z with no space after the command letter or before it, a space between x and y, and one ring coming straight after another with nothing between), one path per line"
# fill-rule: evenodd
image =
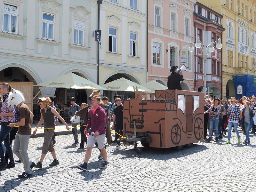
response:
M250 134L255 135L256 118L256 97L242 97L239 101L235 97L228 100L210 98L204 99L204 140L211 142L212 135L215 133L214 141L223 139L228 131L227 144L231 143L231 131L236 132L237 142L241 142L239 131L240 126L243 134L246 136L243 141L244 145L250 143ZM256 116L255 116L256 117ZM254 123L255 122L255 123ZM227 130L228 127L228 130ZM207 136L207 128L209 137Z

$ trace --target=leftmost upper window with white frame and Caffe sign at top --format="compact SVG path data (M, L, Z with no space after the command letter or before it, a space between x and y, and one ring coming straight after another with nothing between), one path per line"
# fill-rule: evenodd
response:
M18 7L4 4L3 6L3 31L18 33Z

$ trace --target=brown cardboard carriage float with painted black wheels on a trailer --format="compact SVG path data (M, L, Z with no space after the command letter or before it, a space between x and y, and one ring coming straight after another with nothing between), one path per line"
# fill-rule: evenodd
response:
M203 140L204 93L183 90L157 90L154 99L142 100L135 92L135 100L124 101L124 145L137 147L178 149ZM147 97L146 97L147 98Z

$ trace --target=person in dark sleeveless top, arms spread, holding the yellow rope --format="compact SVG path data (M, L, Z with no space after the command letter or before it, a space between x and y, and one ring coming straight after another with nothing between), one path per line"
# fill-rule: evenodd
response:
M43 122L44 122L44 128L46 128L44 129L44 143L42 147L42 155L41 155L40 161L35 165L36 168L42 169L42 163L44 161L44 157L47 154L47 151L51 152L53 157L53 162L49 164L49 166L55 166L59 164L59 161L56 157L56 153L52 143L52 135L54 134L54 128L55 128L54 115L58 117L64 125L66 125L67 130L69 130L70 128L68 127L68 124L64 121L64 119L60 116L60 114L50 106L52 104L52 101L49 97L39 98L37 102L39 103L39 106L41 108L40 110L41 117L36 126L36 129L34 130L34 135L36 135L37 128Z

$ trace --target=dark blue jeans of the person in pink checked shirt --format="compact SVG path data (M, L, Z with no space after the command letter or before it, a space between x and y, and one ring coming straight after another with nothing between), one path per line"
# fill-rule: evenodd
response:
M12 146L10 144L10 132L12 127L8 127L7 125L1 124L1 131L0 131L0 143L4 141L4 145L6 147L6 151L10 157L10 162L14 163L13 153L12 153ZM0 145L0 159L1 163L5 162L4 158L4 149L2 145Z

